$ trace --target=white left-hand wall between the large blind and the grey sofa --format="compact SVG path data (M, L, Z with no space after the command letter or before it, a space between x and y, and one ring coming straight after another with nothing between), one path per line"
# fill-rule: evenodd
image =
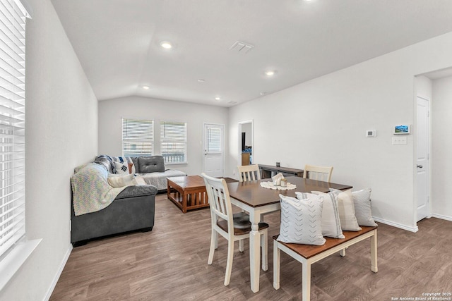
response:
M49 0L28 0L26 231L42 238L0 300L45 300L71 250L70 177L97 153L97 99Z

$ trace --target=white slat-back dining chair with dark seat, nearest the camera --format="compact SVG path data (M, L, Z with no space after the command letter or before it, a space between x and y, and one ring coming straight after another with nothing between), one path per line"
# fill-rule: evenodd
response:
M234 242L249 239L251 222L244 212L232 214L232 204L226 181L222 178L213 178L202 173L206 183L206 191L210 204L212 232L210 237L210 250L208 264L213 262L213 253L218 248L218 234L227 240L227 263L225 285L229 285L232 272L232 259L234 258ZM259 223L258 231L261 233L262 264L268 262L267 223ZM243 245L241 247L243 252Z

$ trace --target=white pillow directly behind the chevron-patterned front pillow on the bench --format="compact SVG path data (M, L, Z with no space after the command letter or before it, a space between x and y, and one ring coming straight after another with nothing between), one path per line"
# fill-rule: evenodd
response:
M338 211L338 198L335 192L295 192L297 199L311 199L311 197L321 196L323 198L322 209L322 234L328 238L345 238L340 228L340 218Z

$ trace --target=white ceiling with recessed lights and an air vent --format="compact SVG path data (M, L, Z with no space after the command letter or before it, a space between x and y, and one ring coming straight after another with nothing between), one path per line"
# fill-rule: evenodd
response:
M52 3L99 100L232 106L452 31L451 0Z

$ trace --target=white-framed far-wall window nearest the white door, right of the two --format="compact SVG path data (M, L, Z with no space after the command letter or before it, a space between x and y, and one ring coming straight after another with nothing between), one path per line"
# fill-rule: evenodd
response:
M171 125L184 125L176 135L167 135L166 130L174 130ZM167 152L167 145L175 145L175 152ZM188 164L187 158L187 123L178 121L160 121L160 154L165 160L165 165Z

